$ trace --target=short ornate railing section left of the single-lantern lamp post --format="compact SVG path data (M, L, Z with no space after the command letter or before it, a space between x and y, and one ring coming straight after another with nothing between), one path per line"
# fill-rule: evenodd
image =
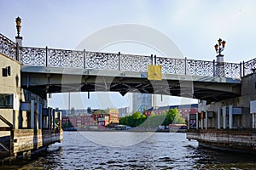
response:
M16 44L9 38L4 37L0 34L0 52L6 54L7 56L16 59Z

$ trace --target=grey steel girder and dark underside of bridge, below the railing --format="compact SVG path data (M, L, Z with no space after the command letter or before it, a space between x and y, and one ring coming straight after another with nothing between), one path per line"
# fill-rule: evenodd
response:
M81 71L23 66L21 88L41 97L67 92L128 92L164 94L204 99L207 103L241 95L241 83L220 77L163 75L162 81L149 81L147 73L120 71Z

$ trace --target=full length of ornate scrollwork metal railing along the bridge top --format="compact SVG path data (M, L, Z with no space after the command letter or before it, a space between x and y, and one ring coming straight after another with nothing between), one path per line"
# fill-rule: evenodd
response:
M165 74L230 77L239 79L256 70L256 59L243 64L217 63L195 59L173 59L166 57L133 54L111 54L90 51L76 51L54 48L18 47L0 34L0 52L23 65L49 66L62 68L100 69L114 71L147 72L148 65L162 65Z

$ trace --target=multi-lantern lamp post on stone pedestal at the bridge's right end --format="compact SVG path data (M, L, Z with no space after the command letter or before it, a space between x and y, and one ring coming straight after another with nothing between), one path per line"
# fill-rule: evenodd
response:
M219 77L224 77L224 54L221 54L221 52L224 50L225 44L226 42L219 38L218 43L214 46L216 53L218 54L216 56L216 73Z

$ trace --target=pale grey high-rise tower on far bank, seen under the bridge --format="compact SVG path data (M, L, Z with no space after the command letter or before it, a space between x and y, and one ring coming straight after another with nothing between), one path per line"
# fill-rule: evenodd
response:
M143 112L152 107L152 94L132 94L132 111Z

